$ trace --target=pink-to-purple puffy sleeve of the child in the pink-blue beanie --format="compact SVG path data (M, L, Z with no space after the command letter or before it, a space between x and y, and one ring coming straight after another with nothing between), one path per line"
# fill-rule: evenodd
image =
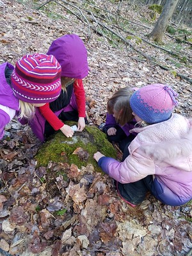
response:
M98 164L103 172L122 184L135 182L155 173L154 161L137 152L121 163L111 157L101 157Z

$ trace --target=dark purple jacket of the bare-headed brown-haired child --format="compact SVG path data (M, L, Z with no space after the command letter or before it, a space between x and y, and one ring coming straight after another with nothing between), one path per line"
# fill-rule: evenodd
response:
M106 116L106 128L111 128L111 127L115 127L116 125L120 126L122 128L122 130L125 132L125 134L127 135L127 137L130 135L130 130L134 128L134 125L136 124L136 122L132 121L129 122L127 124L125 124L124 126L118 125L116 123L115 117L113 117L113 115L109 115L107 113ZM136 134L134 134L136 135Z

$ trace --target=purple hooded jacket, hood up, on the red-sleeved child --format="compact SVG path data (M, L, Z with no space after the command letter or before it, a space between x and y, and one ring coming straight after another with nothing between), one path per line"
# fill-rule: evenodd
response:
M49 47L47 54L52 54L61 65L61 77L72 77L83 79L88 75L87 51L81 38L75 34L61 36L54 40ZM61 92L62 93L62 92ZM58 102L55 100L54 102ZM52 102L52 103L54 103ZM63 105L65 102L63 103ZM77 99L74 91L69 100L69 104L65 108L54 111L56 116L60 113L77 110ZM21 124L26 124L28 120L20 120ZM29 125L35 135L44 141L45 118L36 108L34 117L29 120Z

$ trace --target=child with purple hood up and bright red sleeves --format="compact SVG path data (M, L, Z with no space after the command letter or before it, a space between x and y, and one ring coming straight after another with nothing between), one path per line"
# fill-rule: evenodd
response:
M88 61L83 41L75 34L61 36L52 42L47 54L54 55L61 65L62 90L58 99L36 108L29 121L41 141L58 130L72 137L74 131L65 121L76 121L78 131L83 131L86 118L83 78L88 75Z

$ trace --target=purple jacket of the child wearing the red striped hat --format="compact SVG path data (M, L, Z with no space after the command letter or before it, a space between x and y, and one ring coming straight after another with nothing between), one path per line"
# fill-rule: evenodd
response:
M5 72L11 73L13 69L13 65L7 62L0 65L0 140L3 138L5 125L12 120L16 111L19 110L19 100L6 81L6 78L9 77L6 76Z

